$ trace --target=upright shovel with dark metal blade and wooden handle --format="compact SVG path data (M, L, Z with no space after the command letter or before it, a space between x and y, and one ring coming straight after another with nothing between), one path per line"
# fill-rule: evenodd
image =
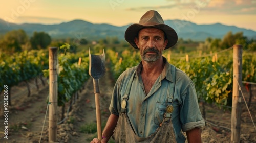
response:
M101 117L100 117L100 105L99 105L99 78L106 73L105 68L105 52L101 55L91 55L89 47L89 75L93 77L93 87L95 94L95 106L96 106L96 121L97 121L97 133L98 139L102 140L101 135Z

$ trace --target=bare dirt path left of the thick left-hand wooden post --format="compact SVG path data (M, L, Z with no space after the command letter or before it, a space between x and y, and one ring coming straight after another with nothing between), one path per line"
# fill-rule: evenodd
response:
M36 142L40 139L40 132L44 122L46 113L46 98L49 94L49 87L39 82L39 90L37 91L33 80L29 81L31 95L28 97L28 89L25 83L11 88L11 103L8 106L8 139L4 138L2 129L3 124L3 106L0 107L0 142ZM0 100L3 102L3 99ZM3 104L2 104L3 105ZM45 126L48 126L48 122ZM38 141L37 141L38 142Z

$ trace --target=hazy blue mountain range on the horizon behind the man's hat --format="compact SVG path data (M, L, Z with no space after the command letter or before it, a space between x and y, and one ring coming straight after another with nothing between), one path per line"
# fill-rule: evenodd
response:
M226 26L221 23L211 25L197 25L189 21L181 20L166 20L166 25L172 27L178 34L179 38L191 39L195 41L204 41L207 37L223 38L227 32L232 33L243 32L244 36L256 39L256 32L236 26ZM83 20L73 20L70 22L63 22L55 25L42 25L42 24L15 24L7 23L0 19L0 35L6 32L23 29L31 36L34 31L44 31L52 38L86 38L89 40L96 40L105 38L106 36L116 36L119 39L124 39L124 32L130 25L126 26L113 26L108 24L94 24Z

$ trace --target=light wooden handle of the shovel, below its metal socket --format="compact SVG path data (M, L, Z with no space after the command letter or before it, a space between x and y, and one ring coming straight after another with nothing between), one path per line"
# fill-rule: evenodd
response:
M99 141L102 140L101 135L101 117L100 117L100 106L99 106L99 93L95 93L95 105L96 105L96 120L97 120L97 133Z

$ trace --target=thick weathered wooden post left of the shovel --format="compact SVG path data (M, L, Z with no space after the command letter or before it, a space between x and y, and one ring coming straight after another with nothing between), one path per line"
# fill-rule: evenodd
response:
M58 73L57 47L49 49L49 142L57 141Z

